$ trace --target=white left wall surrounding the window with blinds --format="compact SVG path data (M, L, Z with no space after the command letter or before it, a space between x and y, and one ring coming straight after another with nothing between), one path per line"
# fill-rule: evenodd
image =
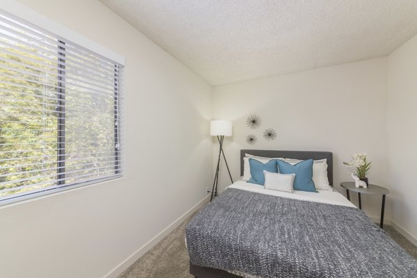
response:
M21 0L122 54L123 179L0 208L0 276L104 277L206 196L212 88L95 0Z

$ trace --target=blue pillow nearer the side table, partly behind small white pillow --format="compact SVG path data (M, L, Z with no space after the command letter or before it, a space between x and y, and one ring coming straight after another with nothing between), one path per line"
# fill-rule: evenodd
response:
M307 159L295 165L277 161L281 174L295 174L294 190L317 192L313 182L313 159Z

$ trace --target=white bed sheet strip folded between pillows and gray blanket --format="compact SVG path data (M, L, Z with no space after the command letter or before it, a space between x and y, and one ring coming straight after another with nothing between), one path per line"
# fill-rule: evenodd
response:
M345 198L345 196L338 193L336 190L318 190L315 192L306 192L300 190L294 190L294 193L287 193L277 190L265 189L263 186L259 186L254 183L248 183L246 181L236 181L227 188L235 188L240 190L246 190L254 193L261 193L265 195L284 197L289 199L299 199L302 201L318 202L323 204L334 204L336 206L350 206L356 208L352 202Z

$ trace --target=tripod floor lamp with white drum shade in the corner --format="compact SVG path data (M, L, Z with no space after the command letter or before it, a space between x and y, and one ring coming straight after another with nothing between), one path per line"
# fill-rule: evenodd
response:
M222 121L222 120L215 120L215 121L210 122L210 135L217 136L219 144L220 144L218 165L215 168L215 176L214 176L214 181L213 181L213 189L211 190L210 202L213 199L213 196L217 196L217 186L218 186L218 181L219 181L219 170L220 170L220 158L222 157L222 155L224 158L224 162L226 163L227 172L229 172L231 183L233 183L233 179L231 179L229 165L227 165L226 156L224 156L224 152L223 152L224 136L231 136L231 134L232 134L231 122Z

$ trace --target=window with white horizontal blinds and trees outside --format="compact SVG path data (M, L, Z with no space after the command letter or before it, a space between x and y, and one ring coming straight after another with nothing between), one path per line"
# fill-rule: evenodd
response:
M121 177L121 74L0 11L0 204Z

